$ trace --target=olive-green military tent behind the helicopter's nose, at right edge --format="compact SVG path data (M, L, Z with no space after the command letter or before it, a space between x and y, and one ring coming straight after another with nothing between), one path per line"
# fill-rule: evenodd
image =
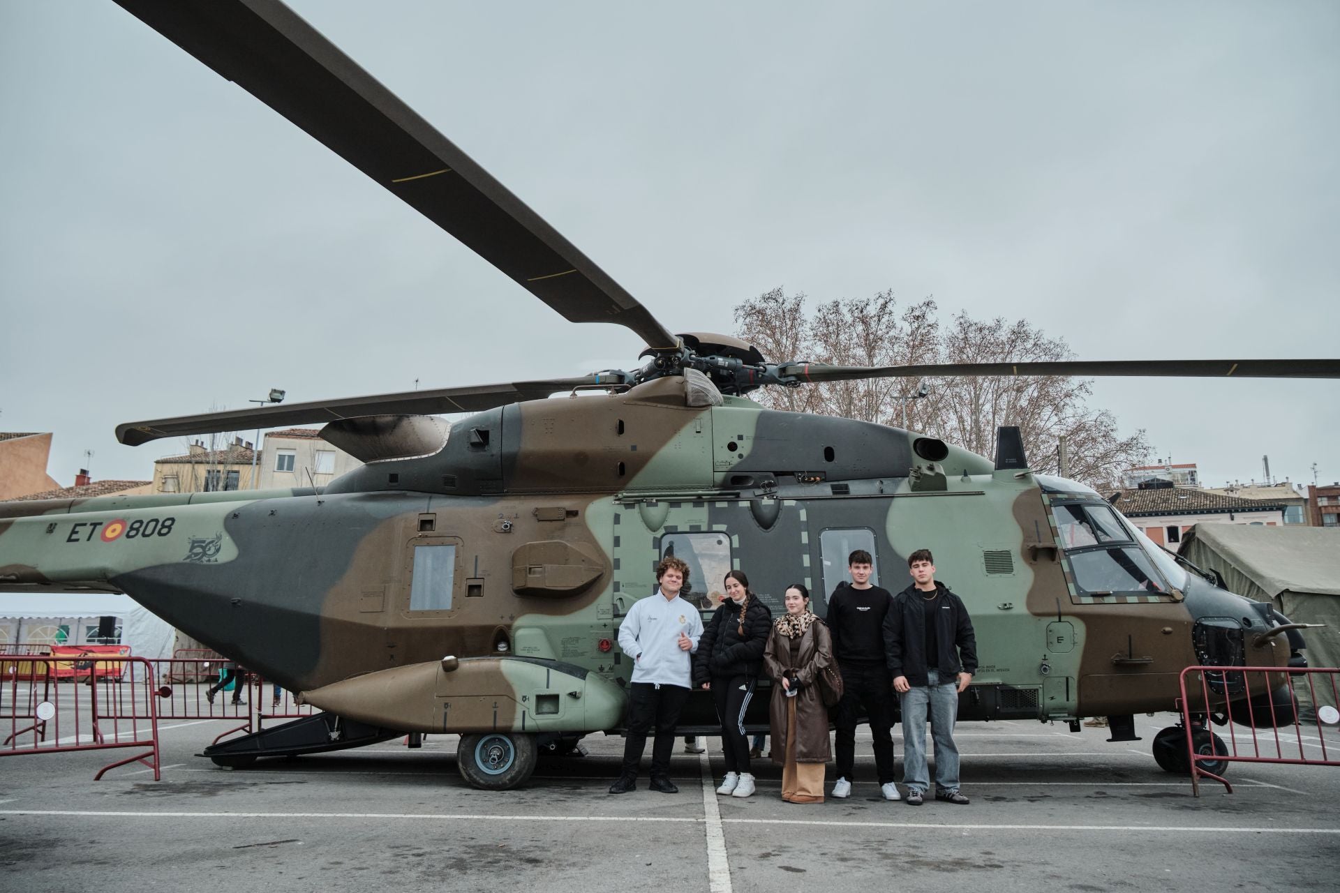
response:
M1218 570L1231 592L1273 602L1293 623L1325 624L1302 631L1308 665L1340 667L1340 529L1198 523L1178 553ZM1336 706L1329 676L1317 675L1313 684L1317 706ZM1300 680L1296 691L1306 706L1308 687Z

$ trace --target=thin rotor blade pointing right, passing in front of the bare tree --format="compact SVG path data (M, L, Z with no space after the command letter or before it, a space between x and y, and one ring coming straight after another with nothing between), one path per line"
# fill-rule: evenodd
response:
M922 379L990 375L1186 376L1256 379L1335 379L1340 360L1061 360L1051 363L931 363L925 366L827 366L788 363L777 370L801 382Z

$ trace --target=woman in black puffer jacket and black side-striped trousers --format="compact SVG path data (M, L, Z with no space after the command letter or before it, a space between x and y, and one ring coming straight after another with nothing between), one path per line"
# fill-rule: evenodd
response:
M768 605L749 592L749 577L732 570L726 574L726 597L702 631L693 656L693 684L713 694L721 723L726 778L718 794L749 797L754 793L745 711L762 675L762 651L769 632L772 612Z

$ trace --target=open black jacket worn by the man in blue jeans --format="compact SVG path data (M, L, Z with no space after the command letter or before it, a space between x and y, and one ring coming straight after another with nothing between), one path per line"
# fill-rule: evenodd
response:
M977 636L973 619L967 616L963 600L935 581L939 598L935 601L935 637L939 645L941 683L951 681L959 672L977 673ZM896 596L884 615L884 652L888 672L896 679L907 676L909 684L926 685L926 600L917 585L907 586Z

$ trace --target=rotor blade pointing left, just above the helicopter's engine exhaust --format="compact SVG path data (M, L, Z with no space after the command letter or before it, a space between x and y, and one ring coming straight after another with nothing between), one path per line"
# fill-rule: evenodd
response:
M139 446L159 438L188 434L214 434L217 431L247 431L276 428L291 424L326 424L336 419L364 415L433 415L438 412L482 412L493 407L539 400L555 391L600 384L619 384L608 375L584 375L572 379L543 382L512 382L509 384L480 384L476 387L438 388L436 391L403 391L401 394L374 394L340 400L314 400L288 406L267 406L249 410L226 410L201 415L180 415L174 419L126 422L117 426L117 439L127 446Z

